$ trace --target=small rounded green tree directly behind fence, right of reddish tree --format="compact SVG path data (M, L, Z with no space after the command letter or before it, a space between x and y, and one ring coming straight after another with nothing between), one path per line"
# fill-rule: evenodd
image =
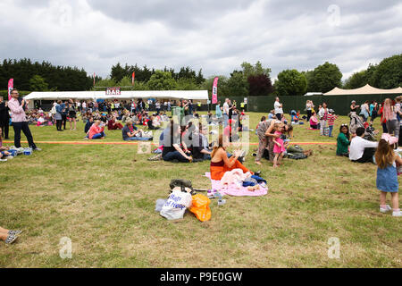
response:
M307 90L306 76L297 70L281 71L275 81L279 96L303 96Z

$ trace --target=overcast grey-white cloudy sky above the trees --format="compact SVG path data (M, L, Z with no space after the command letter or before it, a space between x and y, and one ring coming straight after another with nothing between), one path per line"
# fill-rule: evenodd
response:
M108 76L113 64L230 75L261 61L336 63L345 80L402 53L402 2L289 0L0 0L0 59L31 58Z

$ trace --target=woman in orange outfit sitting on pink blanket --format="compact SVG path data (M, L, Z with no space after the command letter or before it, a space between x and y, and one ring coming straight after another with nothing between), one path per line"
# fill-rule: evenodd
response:
M234 152L234 156L228 158L226 154L226 147L229 145L226 139L223 140L223 135L219 136L218 146L214 146L214 150L211 154L211 179L212 180L221 180L224 173L234 170L241 169L243 172L251 172L248 170L243 164L239 162L239 156L242 155L241 150L237 150ZM254 172L251 172L254 174Z

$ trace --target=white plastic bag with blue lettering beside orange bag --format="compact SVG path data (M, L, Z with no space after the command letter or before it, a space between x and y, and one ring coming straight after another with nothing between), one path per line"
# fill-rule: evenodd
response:
M160 214L168 220L179 220L183 218L186 209L192 205L192 202L193 198L190 193L173 190Z

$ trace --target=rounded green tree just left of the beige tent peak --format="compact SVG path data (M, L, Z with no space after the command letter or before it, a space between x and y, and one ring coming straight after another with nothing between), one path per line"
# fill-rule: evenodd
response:
M342 72L339 71L339 67L328 62L317 66L308 82L309 91L325 93L335 87L342 87Z

